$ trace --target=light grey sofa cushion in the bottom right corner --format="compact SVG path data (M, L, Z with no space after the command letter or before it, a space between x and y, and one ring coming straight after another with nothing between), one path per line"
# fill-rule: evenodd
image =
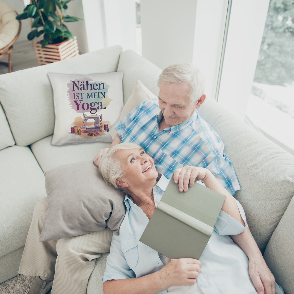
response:
M294 289L294 197L265 248L264 259L285 293Z

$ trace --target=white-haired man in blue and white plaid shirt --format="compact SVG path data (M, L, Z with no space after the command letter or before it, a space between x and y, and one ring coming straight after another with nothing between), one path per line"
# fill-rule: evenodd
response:
M111 147L120 142L142 146L154 158L157 171L167 178L182 166L205 167L233 195L240 186L223 153L223 142L196 110L206 98L200 71L187 63L168 66L159 76L158 86L158 100L144 101L116 124L118 134ZM97 154L96 165L107 151ZM249 228L232 238L249 258L249 274L257 292L274 293L274 277Z

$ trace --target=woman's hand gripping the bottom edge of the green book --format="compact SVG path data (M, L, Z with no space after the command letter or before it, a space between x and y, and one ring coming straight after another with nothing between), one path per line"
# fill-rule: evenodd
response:
M193 258L171 259L159 270L159 278L170 286L193 285L200 273L201 262Z

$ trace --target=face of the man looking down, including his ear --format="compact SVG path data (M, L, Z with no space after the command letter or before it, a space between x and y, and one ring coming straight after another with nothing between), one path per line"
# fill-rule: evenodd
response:
M160 84L158 105L166 124L170 127L187 121L199 107L197 107L197 101L190 103L187 87L187 85L177 83Z

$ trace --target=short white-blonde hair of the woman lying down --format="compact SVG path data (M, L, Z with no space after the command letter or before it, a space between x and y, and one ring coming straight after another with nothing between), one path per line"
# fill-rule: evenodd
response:
M99 165L101 175L105 181L117 189L120 189L120 187L116 184L116 180L124 176L124 171L121 169L121 162L116 156L116 152L135 148L141 148L141 146L135 143L120 143L110 148L109 151L101 158Z

